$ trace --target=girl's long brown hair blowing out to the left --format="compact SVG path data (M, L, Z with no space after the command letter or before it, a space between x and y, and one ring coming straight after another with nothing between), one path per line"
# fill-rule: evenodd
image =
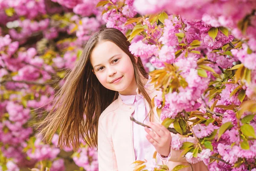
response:
M119 46L131 59L134 66L135 80L139 91L150 106L149 118L152 120L151 99L145 91L141 78L148 73L140 57L137 60L129 51L130 42L121 31L115 28L99 30L91 36L79 57L76 66L65 76L65 83L55 94L54 106L47 117L36 125L49 143L54 133L59 130L58 146L79 148L79 136L90 147L97 147L98 121L101 113L118 97L118 92L108 90L100 84L93 73L90 56L93 48L101 41L111 41ZM84 118L85 115L85 118Z

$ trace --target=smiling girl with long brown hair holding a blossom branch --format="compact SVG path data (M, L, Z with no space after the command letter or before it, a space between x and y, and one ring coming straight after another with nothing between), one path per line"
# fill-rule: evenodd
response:
M58 145L74 150L81 136L98 148L99 171L132 171L135 160L154 161L154 151L157 164L167 164L170 170L189 165L180 151L171 149L172 136L160 125L151 105L157 91L129 45L125 35L114 28L100 30L89 39L57 93L54 110L40 124L41 134L50 142L60 128ZM151 129L133 123L130 116ZM194 171L207 170L203 162L192 166Z

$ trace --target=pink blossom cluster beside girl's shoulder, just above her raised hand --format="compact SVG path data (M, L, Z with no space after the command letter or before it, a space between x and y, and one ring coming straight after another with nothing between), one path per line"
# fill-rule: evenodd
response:
M174 64L179 67L180 75L185 78L188 86L179 87L179 93L175 91L166 94L166 102L161 114L162 120L175 118L183 110L190 112L198 109L201 106L198 99L201 98L201 94L207 89L209 83L209 78L198 76L195 55L191 54L187 58L183 58L181 55Z

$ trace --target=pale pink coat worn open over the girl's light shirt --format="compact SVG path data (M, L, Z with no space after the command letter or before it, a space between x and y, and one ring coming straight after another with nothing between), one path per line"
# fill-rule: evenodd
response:
M157 91L154 85L146 90L152 99ZM147 111L148 103L145 101ZM127 105L118 97L110 104L99 117L98 126L98 160L99 171L133 171L135 161L133 145L133 123L130 116L134 113L134 106ZM156 108L154 108L154 122L160 123ZM169 171L176 165L189 165L183 157L180 157L181 151L172 149L169 162L167 163ZM166 164L166 161L163 161ZM193 171L208 171L203 162L192 164ZM183 168L181 171L192 171L190 167Z

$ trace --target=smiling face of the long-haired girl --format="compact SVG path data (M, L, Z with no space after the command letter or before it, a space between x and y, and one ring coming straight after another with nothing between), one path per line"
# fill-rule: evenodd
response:
M136 90L134 67L130 57L111 41L99 42L91 54L93 72L107 89L122 95Z

